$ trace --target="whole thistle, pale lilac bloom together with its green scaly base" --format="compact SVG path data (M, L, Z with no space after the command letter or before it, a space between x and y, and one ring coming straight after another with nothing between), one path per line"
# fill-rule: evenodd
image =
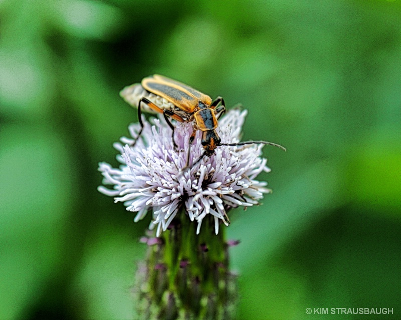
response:
M240 141L246 114L232 109L219 119L223 143ZM136 318L230 320L237 275L229 268L229 248L239 241L227 241L219 224L230 223L230 208L258 204L270 192L266 182L256 180L270 171L261 157L263 144L220 145L208 157L199 130L189 145L191 123L176 124L176 149L164 118L143 118L143 123L135 144L139 124L129 126L133 138L114 144L119 168L99 164L103 183L113 188L98 188L137 212L134 221L152 211L149 228L157 226L140 238L147 254L136 273Z

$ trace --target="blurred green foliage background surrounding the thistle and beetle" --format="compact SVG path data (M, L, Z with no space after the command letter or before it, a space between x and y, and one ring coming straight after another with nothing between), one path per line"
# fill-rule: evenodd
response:
M129 319L149 219L97 192L160 73L249 110L238 319L401 318L401 1L0 1L0 318ZM149 217L148 217L149 218Z

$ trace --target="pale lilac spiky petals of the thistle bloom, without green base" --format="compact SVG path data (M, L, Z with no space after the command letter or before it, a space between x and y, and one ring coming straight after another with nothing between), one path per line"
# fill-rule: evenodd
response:
M217 132L222 143L240 141L246 114L246 110L232 109L219 119ZM263 193L270 192L265 188L267 182L255 180L260 172L270 171L267 160L261 157L262 144L219 146L211 157L205 156L192 165L204 152L198 131L190 146L189 166L184 169L192 124L176 124L174 140L178 149L174 150L171 128L162 117L151 123L143 118L143 123L141 137L134 146L130 146L134 139L127 137L114 144L121 152L117 156L122 163L119 168L105 162L99 164L103 183L114 186L112 190L99 186L98 190L114 196L115 202L123 201L127 210L137 212L135 222L152 210L150 228L157 225L157 236L181 208L191 221L197 221L197 233L203 218L212 214L217 234L220 220L229 224L229 208L258 204ZM139 128L139 123L131 124L131 136L136 137Z

